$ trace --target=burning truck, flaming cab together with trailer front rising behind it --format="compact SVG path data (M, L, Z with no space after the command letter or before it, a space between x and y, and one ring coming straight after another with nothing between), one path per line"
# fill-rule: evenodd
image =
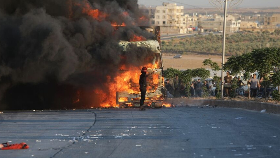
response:
M123 51L131 51L133 47L144 48L153 54L149 62L142 66L119 66L118 77L115 78L115 101L114 107L139 106L141 93L139 90L139 77L142 67L148 68L148 73L154 71L153 75L147 78L147 93L145 104L152 108L160 108L166 98L166 89L164 87L163 62L160 52L160 28L159 27L141 27L142 29L153 33L153 37L146 40L145 38L134 39L132 41L120 41L119 47ZM114 86L113 86L114 87ZM112 89L113 90L113 89ZM104 105L101 107L108 107Z

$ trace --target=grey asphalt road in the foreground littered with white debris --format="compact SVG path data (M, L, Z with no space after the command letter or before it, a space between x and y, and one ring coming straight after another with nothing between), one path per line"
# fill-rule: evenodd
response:
M257 158L280 155L280 116L221 107L2 111L0 158Z

